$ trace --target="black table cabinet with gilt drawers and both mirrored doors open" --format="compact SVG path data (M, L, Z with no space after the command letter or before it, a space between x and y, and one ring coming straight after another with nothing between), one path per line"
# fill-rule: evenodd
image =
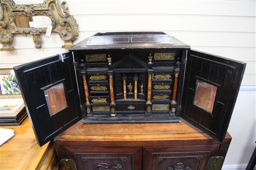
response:
M81 119L101 126L183 118L222 143L245 65L163 32L107 32L14 71L39 145Z

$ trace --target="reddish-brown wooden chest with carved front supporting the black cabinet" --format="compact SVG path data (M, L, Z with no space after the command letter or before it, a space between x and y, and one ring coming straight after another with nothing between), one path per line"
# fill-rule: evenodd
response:
M74 160L77 170L221 170L230 141L227 133L220 144L185 120L101 125L80 121L54 140L59 159Z

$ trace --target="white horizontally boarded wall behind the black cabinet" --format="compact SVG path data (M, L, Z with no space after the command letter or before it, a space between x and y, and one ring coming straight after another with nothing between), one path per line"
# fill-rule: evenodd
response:
M229 126L233 140L224 164L243 167L248 163L256 140L255 0L67 0L67 6L80 27L76 42L99 31L164 31L193 49L246 62L243 89L253 89L240 91L238 96ZM38 50L31 36L14 36L16 50L0 52L0 67L11 68L66 51L58 34L42 35L42 39Z

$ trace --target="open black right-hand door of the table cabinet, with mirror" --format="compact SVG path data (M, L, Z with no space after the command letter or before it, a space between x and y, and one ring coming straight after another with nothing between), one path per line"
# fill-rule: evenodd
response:
M190 50L182 118L219 140L225 138L246 63Z

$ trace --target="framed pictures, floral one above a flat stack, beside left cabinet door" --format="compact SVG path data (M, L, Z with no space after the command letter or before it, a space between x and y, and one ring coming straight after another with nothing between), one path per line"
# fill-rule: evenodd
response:
M26 108L13 69L0 69L0 126L20 125Z

